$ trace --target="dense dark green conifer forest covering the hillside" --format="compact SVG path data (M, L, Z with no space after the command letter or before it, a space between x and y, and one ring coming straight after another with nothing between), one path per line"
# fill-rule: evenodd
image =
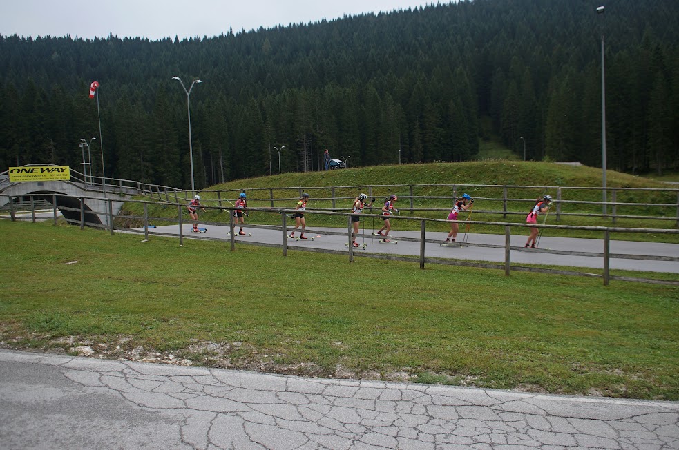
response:
M283 172L319 170L326 148L369 166L468 161L497 141L601 167L602 44L608 168L677 170L679 1L461 0L182 40L0 35L0 171L82 171L80 139L96 137L107 177L188 188L175 76L202 81L196 188L276 175L279 151Z

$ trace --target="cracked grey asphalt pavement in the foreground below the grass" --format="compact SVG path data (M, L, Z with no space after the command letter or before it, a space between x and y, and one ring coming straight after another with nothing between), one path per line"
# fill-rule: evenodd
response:
M679 402L0 350L0 449L679 449Z

